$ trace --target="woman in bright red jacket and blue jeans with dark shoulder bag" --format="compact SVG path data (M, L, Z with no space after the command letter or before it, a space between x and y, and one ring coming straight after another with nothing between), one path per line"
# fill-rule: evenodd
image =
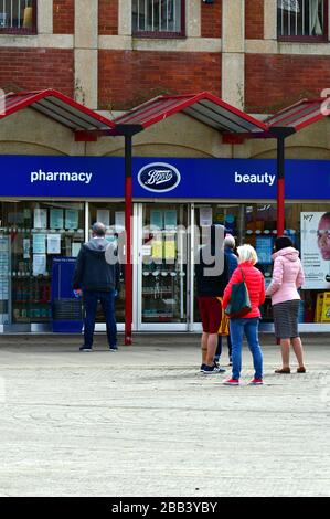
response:
M223 295L223 307L226 309L234 283L241 283L243 278L247 287L251 301L251 310L244 317L230 319L232 338L232 378L224 380L225 385L238 385L242 369L243 336L246 336L249 351L253 356L254 378L249 382L253 385L263 384L263 353L258 340L258 326L260 319L259 306L265 300L265 279L260 271L254 265L258 261L256 251L251 245L242 245L237 248L238 266L227 284Z

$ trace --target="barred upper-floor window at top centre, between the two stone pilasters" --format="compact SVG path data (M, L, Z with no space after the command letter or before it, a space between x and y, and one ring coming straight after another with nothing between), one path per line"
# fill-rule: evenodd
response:
M184 0L132 0L131 4L134 34L184 36Z

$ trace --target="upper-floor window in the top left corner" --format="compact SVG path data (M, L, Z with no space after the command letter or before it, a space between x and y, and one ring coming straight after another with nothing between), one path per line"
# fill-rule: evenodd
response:
M0 0L0 34L31 34L36 30L36 0Z

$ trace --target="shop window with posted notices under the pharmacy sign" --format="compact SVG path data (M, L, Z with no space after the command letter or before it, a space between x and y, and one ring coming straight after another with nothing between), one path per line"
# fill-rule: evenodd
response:
M54 257L77 256L84 204L0 202L0 324L50 324Z

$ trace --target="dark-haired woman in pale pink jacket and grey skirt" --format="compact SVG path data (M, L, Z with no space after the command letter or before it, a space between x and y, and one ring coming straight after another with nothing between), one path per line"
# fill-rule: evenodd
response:
M299 252L288 236L275 240L274 269L266 296L272 297L275 335L280 340L283 367L275 373L290 373L290 343L298 361L297 373L305 373L302 345L298 333L300 296L305 277Z

